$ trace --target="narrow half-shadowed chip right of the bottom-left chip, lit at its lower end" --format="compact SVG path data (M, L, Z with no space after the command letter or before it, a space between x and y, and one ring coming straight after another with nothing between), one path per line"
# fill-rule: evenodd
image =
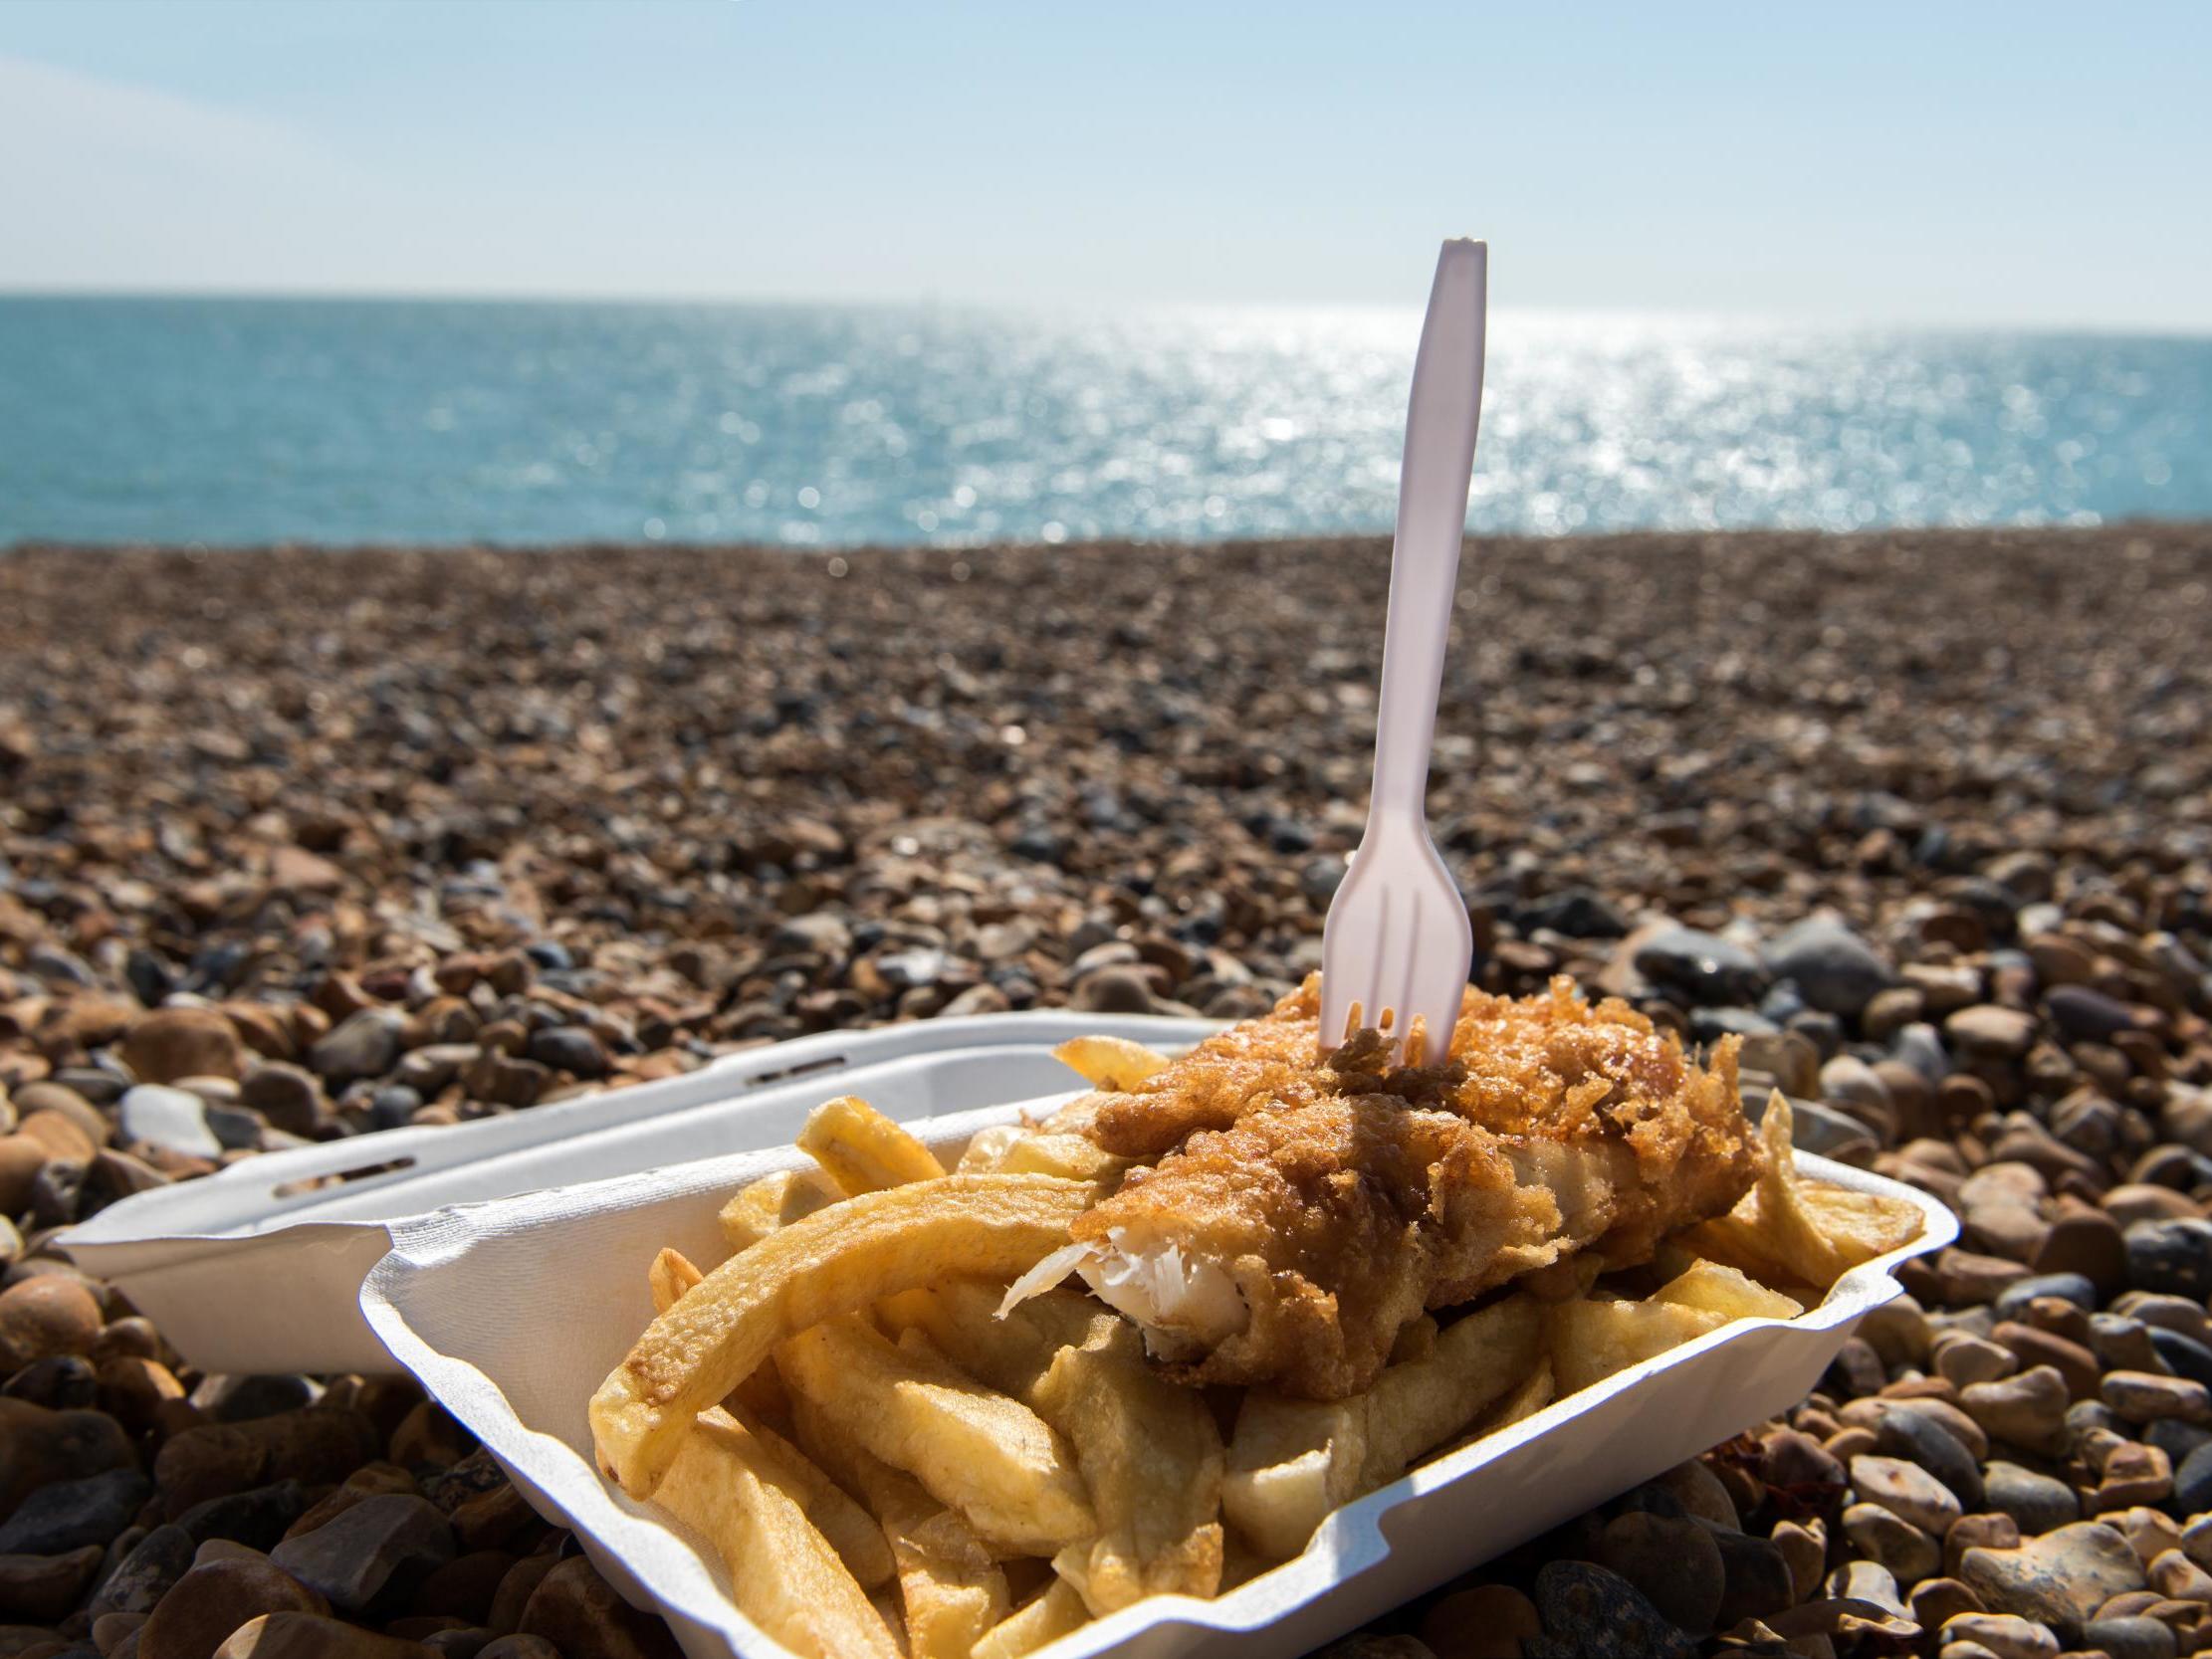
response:
M989 1546L914 1475L863 1451L803 1396L794 1418L807 1451L867 1500L889 1540L909 1659L969 1659L1009 1608L1006 1573Z

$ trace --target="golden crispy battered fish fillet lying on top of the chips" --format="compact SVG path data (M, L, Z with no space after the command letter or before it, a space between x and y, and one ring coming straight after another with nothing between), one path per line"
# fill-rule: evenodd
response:
M1442 1066L1391 1068L1371 1031L1316 1062L1318 984L1071 1108L1150 1168L1018 1292L1073 1267L1181 1380L1334 1400L1425 1310L1584 1250L1641 1263L1752 1183L1734 1037L1701 1068L1628 1004L1555 980L1469 991Z

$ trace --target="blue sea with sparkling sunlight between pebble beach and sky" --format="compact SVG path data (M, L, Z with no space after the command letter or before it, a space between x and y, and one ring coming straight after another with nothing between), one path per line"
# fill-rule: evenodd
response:
M1383 531L1413 312L0 301L0 546ZM2212 341L1500 314L1478 531L2212 518Z

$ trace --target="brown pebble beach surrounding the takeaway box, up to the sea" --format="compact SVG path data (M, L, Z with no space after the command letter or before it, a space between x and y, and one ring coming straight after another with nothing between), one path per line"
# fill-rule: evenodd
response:
M0 1659L675 1655L409 1380L199 1374L55 1234L803 1033L1265 1009L1387 553L0 555ZM1741 1033L1964 1232L1334 1659L2212 1650L2208 584L2212 524L1469 546L1478 982Z

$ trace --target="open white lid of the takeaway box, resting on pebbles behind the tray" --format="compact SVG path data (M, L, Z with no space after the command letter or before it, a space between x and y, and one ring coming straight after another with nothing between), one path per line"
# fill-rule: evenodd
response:
M1181 1051L1217 1029L1057 1009L796 1037L507 1117L243 1159L113 1203L60 1245L204 1371L389 1371L361 1318L361 1281L403 1217L787 1144L838 1093L898 1119L1022 1099L1066 1084L1051 1051L1068 1037Z

